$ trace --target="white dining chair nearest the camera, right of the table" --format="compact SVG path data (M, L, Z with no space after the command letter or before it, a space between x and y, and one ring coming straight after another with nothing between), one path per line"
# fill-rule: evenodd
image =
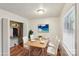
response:
M60 43L60 40L58 40L57 38L55 39L55 41L49 42L48 49L47 49L47 53L49 56L57 55L59 43Z

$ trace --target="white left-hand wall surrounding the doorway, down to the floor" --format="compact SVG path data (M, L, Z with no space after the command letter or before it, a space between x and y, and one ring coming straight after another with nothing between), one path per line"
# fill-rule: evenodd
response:
M10 55L9 54L9 52L10 52L10 50L9 50L9 48L10 48L9 47L10 46L10 26L9 26L10 21L12 20L12 21L17 21L17 22L22 22L24 24L23 36L26 36L28 33L28 20L26 18L20 17L16 14L13 14L11 12L8 12L8 11L2 10L2 9L0 9L0 18L3 18L3 20L4 20L4 28L3 29L4 29L4 32L6 32L4 34L4 38L3 38L3 41L4 41L3 42L3 45L4 45L3 51L6 51L6 53L4 52L4 55ZM0 40L2 40L2 39L0 39Z

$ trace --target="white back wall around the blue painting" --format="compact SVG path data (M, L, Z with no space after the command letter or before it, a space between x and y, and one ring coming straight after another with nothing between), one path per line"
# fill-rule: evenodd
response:
M32 19L30 20L31 29L35 33L35 37L38 35L42 35L45 38L49 38L54 41L55 36L58 36L60 39L60 20L58 17L50 17L50 18L40 18L40 19ZM40 33L38 32L39 24L49 24L49 32L48 33Z

